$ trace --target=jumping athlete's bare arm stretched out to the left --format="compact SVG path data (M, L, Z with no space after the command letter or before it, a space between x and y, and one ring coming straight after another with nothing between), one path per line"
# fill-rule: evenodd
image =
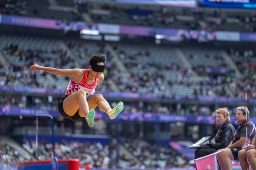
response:
M65 77L80 77L83 74L82 70L79 68L58 69L58 68L52 68L52 67L38 66L37 64L33 64L32 66L30 66L30 69L31 69L31 72L43 70L51 74L55 74L57 76L65 76Z

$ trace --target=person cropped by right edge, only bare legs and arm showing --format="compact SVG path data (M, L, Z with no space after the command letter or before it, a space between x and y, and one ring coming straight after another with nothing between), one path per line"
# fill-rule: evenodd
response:
M247 146L246 149L239 151L238 158L242 170L247 170L247 157L253 170L256 170L256 135L252 140L252 145Z

